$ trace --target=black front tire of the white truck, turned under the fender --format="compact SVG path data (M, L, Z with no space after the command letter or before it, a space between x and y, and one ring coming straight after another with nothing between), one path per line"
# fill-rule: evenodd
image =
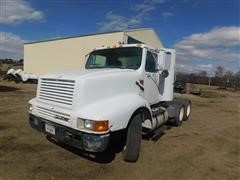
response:
M126 145L123 148L123 159L136 162L139 157L142 141L142 114L136 114L127 129Z

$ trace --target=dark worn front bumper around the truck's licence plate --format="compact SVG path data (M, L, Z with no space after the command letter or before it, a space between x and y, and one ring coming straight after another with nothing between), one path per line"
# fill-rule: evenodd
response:
M61 142L85 151L101 152L107 148L109 143L109 133L99 135L89 134L48 121L32 114L29 114L29 123L32 128L44 134L48 134ZM54 127L54 134L46 132L46 124Z

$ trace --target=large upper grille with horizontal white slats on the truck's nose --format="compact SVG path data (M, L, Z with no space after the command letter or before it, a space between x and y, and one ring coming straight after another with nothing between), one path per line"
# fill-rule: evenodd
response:
M74 80L42 78L39 99L72 105L74 86Z

